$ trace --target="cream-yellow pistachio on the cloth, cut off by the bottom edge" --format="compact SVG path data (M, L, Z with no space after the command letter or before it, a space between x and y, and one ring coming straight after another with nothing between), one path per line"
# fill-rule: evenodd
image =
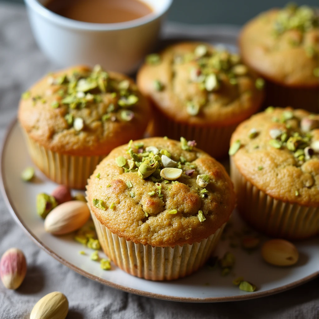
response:
M69 302L63 293L55 291L42 297L33 307L30 319L65 319Z

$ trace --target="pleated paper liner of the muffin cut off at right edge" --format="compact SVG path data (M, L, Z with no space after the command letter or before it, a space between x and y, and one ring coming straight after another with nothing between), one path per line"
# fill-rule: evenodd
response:
M318 207L290 204L267 195L246 180L232 158L230 162L238 211L252 227L269 236L287 239L319 234Z

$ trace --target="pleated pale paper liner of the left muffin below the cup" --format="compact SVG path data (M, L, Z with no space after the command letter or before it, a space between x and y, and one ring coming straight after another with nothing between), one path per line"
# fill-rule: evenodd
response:
M105 156L71 156L52 152L24 132L34 164L52 181L70 188L85 189L87 179Z

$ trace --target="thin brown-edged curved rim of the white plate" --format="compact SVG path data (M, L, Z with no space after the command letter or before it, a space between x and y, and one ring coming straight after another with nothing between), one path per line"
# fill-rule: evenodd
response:
M157 294L157 293L150 293L150 292L145 292L142 290L138 290L138 289L134 289L134 288L129 288L126 286L122 286L119 284L115 284L112 281L100 278L98 276L95 276L93 274L90 274L89 272L75 266L74 264L70 263L69 261L65 260L64 258L62 258L61 256L59 256L57 253L55 253L53 250L51 250L50 248L48 248L35 234L33 234L33 232L25 225L23 219L21 218L21 216L19 215L19 213L17 212L17 209L15 208L15 205L10 197L9 194L9 189L8 186L6 184L6 181L4 180L4 157L5 157L5 151L6 151L6 147L8 145L8 141L9 141L9 137L12 134L13 129L19 125L17 118L15 118L7 127L5 135L4 135L4 139L1 145L1 149L0 149L0 190L2 193L2 196L4 198L4 202L8 208L8 210L10 211L13 219L16 221L16 223L19 224L19 226L25 231L25 233L28 235L28 237L30 237L35 244L40 247L41 249L43 249L46 253L48 253L50 256L54 257L57 261L59 261L60 263L62 263L63 265L67 266L68 268L70 268L73 271L76 271L77 273L79 273L82 276L85 276L86 278L92 279L96 282L99 282L101 284L104 284L106 286L118 289L118 290L122 290L124 292L128 292L128 293L134 293L140 296L145 296L145 297L150 297L150 298L156 298L156 299L162 299L162 300L170 300L170 301L180 301L180 302L221 302L221 301L240 301L240 300L249 300L249 299L256 299L256 298L260 298L260 297L266 297L266 296L270 296L276 293L280 293L280 292L284 292L286 290L289 290L291 288L300 286L312 279L315 279L317 276L319 276L319 271L314 272L311 275L308 275L307 277L304 277L302 279L299 279L297 281L294 281L290 284L284 285L284 286L280 286L278 288L273 288L270 290L266 290L263 292L256 292L256 293L251 293L251 294L244 294L244 295L238 295L238 296L228 296L228 297L204 297L204 298L200 298L200 297L176 297L176 296L170 296L170 295L163 295L163 294ZM156 284L156 281L154 281L154 284Z

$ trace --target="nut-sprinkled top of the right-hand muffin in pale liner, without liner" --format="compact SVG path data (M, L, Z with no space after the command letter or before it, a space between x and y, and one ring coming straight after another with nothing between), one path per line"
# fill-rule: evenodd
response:
M319 206L319 115L270 107L237 127L230 155L241 174L271 197Z

